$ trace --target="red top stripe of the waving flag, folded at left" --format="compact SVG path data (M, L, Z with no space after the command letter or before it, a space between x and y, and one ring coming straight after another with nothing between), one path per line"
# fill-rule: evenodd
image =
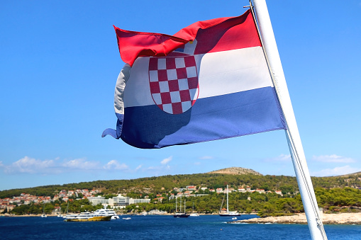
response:
M199 21L174 35L114 29L121 59L130 66L137 57L164 57L194 39L198 42L194 54L260 46L250 10L238 17Z

